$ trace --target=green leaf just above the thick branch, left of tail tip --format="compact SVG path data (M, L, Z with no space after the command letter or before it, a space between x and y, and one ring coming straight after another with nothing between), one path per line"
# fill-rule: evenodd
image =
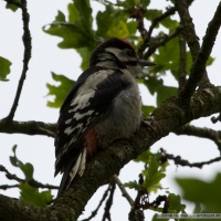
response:
M51 190L39 192L39 189L29 186L28 183L20 183L21 190L20 200L31 206L48 207L48 202L52 200Z

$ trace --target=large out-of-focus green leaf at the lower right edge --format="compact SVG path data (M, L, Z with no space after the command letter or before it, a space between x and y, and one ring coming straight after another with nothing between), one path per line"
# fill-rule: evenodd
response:
M202 212L220 212L221 173L218 173L214 180L210 182L193 178L176 178L176 181L182 189L183 199L193 203L201 203L203 206Z

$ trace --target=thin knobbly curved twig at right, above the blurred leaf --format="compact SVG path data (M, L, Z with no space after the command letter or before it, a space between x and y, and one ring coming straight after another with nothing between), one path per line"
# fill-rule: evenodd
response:
M221 157L217 157L214 159L208 160L208 161L201 161L201 162L189 162L186 159L182 159L180 156L173 156L170 154L167 154L166 150L164 150L162 148L160 148L160 151L162 152L162 155L167 158L167 159L171 159L175 161L175 165L180 165L182 167L197 167L199 169L201 169L204 165L211 165L213 162L219 162L221 161Z

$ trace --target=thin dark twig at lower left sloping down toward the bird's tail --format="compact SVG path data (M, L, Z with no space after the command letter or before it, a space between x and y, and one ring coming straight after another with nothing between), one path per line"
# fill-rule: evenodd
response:
M23 183L28 182L33 188L59 189L59 187L56 187L56 186L48 185L48 183L43 185L43 183L41 183L41 182L39 182L39 181L34 180L34 179L28 180L28 181L24 180L24 179L21 179L21 178L17 177L15 175L12 175L11 172L9 172L9 170L7 170L7 168L3 167L2 165L0 165L0 171L6 172L6 177L8 179L15 180L18 182L23 182Z

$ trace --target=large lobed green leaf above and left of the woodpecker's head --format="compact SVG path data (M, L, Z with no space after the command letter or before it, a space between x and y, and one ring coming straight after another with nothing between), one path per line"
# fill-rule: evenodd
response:
M63 39L59 43L61 49L94 48L94 34L92 30L92 9L88 0L77 0L69 4L69 21L59 11L53 23L43 27L43 31ZM90 14L87 14L90 13Z

